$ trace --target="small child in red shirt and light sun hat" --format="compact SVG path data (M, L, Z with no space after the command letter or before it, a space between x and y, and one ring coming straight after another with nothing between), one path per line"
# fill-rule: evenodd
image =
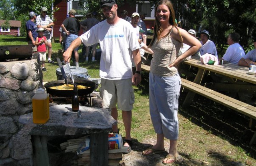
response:
M44 28L40 27L36 32L38 32L38 36L36 37L36 47L37 47L37 53L40 55L40 61L42 63L42 71L46 72L45 68L45 60L46 60L46 46L47 46L47 40L44 36Z

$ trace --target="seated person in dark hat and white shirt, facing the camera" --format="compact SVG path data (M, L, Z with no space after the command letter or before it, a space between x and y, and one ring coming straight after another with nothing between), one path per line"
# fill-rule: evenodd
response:
M200 38L201 38L200 42L202 44L202 47L199 49L199 51L200 51L201 56L206 53L209 53L209 54L214 55L215 57L218 57L216 46L215 46L214 42L210 40L209 32L206 30L203 30L200 33Z

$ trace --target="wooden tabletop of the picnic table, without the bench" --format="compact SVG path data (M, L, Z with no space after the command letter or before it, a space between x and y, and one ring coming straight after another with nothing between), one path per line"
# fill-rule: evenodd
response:
M238 66L237 64L225 63L223 65L204 65L199 57L192 57L189 61L182 62L200 69L216 72L224 76L240 79L245 82L256 84L256 76L248 74L248 67Z

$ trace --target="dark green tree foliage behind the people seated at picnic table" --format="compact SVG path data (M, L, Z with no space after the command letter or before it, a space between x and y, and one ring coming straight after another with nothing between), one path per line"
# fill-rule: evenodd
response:
M230 32L241 35L240 44L246 48L255 33L256 3L253 0L174 0L176 18L182 19L183 28L206 29L211 40L224 54Z

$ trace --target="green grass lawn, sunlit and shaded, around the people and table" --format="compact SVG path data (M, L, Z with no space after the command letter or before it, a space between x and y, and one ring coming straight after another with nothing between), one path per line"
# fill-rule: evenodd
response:
M23 44L27 44L25 37L0 35L0 45ZM52 43L52 46L52 59L57 62L56 57L60 57L62 60L62 54L58 53L58 49L61 48L60 43ZM99 62L85 63L81 49L79 49L79 55L80 67L86 68L91 78L99 78ZM46 63L46 68L48 71L43 72L43 81L57 80L58 64ZM134 142L147 143L153 140L153 144L156 136L149 114L148 73L143 72L142 77L144 79L140 86L134 87L135 104L132 110L131 134ZM184 96L185 93L181 93L180 103L184 100ZM196 95L196 102L188 109L179 109L178 116L180 136L177 150L183 161L178 161L175 165L256 165L256 146L249 145L255 128L247 127L249 122L247 117L198 95ZM124 136L121 111L118 118L120 133ZM165 140L165 143L168 141ZM161 165L161 161L159 164Z

